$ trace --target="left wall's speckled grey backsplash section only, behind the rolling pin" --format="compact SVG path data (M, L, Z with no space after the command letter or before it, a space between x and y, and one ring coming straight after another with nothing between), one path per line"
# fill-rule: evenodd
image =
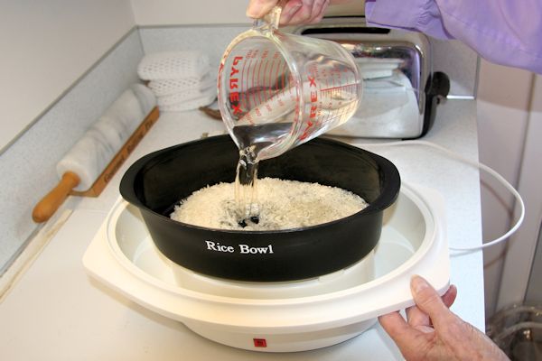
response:
M37 225L34 205L58 182L56 163L130 84L143 57L136 29L126 34L0 155L0 273Z

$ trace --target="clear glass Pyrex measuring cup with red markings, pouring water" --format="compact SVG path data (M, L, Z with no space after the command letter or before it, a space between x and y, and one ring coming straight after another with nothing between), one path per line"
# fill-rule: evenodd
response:
M346 122L362 91L350 52L336 42L278 31L280 12L276 6L238 35L220 61L222 119L256 162Z

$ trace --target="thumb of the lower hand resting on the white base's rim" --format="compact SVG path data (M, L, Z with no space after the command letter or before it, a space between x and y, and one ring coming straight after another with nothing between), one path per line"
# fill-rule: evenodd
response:
M435 289L424 278L418 275L413 276L410 280L410 291L414 296L416 306L429 316L435 326L455 318Z

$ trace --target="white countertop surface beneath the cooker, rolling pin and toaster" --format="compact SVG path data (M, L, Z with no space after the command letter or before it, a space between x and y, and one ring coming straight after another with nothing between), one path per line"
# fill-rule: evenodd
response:
M448 100L424 138L478 160L476 103ZM70 218L0 303L3 360L248 360L399 359L378 326L334 347L292 354L260 354L222 346L181 323L127 301L87 276L81 258L108 210L129 164L146 153L223 129L198 111L164 114L97 199L71 197ZM360 141L357 141L360 142ZM422 145L367 147L394 162L402 180L429 187L445 199L447 237L456 247L481 244L479 171ZM62 210L62 209L61 209ZM481 252L451 254L452 310L484 328Z

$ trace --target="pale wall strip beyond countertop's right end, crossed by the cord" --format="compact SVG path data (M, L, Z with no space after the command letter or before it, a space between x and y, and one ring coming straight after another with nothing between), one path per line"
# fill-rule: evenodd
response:
M518 186L532 73L481 60L478 91L478 132L481 162ZM484 239L501 236L508 230L513 198L490 177L481 176L482 227ZM484 251L486 316L496 311L505 247Z

